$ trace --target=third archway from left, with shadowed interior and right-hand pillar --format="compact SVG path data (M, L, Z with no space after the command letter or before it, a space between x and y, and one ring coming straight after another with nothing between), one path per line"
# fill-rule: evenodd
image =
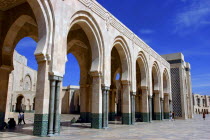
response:
M115 116L122 117L122 124L132 124L131 95L130 94L130 53L127 49L126 41L118 36L115 38L111 50L111 87L110 87L110 120L115 120ZM120 79L116 80L116 75ZM117 99L117 101L116 101ZM116 110L115 104L118 103ZM121 104L121 105L119 105ZM118 113L118 114L116 114ZM134 114L133 114L134 115Z

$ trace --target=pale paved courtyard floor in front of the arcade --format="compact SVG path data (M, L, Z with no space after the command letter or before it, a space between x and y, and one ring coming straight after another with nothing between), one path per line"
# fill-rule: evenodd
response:
M132 126L110 122L106 130L91 129L90 124L73 124L69 120L72 115L62 115L61 135L56 137L35 137L32 135L33 115L26 114L26 125L17 126L15 130L0 132L1 140L40 140L40 139L72 139L72 140L209 140L210 115L206 120L202 115L195 115L190 120L153 121L152 123L136 123ZM30 118L30 119L29 119Z

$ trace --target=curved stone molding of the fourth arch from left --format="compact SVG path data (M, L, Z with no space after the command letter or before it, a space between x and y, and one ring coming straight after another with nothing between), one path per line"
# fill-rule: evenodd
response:
M137 64L139 65L141 72L141 87L147 88L149 82L149 69L148 69L148 61L143 51L138 53L136 58Z

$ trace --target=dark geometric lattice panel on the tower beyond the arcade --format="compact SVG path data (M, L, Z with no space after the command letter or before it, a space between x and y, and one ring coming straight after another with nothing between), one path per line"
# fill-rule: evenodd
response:
M174 114L182 117L179 68L171 68L171 90Z

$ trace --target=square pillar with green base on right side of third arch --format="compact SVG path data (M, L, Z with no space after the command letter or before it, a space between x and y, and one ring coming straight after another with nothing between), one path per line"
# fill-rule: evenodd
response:
M130 98L130 83L122 82L122 124L131 124L131 98Z

